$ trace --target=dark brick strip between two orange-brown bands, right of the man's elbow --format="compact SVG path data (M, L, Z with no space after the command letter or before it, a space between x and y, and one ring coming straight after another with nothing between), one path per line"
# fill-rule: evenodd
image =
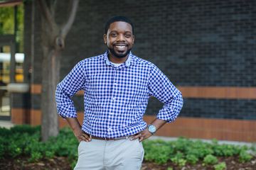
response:
M256 100L185 98L181 116L256 120Z

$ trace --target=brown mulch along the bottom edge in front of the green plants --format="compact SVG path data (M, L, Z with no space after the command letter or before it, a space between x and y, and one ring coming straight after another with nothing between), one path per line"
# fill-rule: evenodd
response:
M219 158L219 162L225 162L228 170L256 170L256 157L250 162L240 163L238 157ZM186 164L186 166L178 167L175 164L168 162L167 164L159 165L152 162L143 162L142 170L214 170L213 166L203 166L202 162L196 165ZM0 169L10 170L70 170L70 164L66 157L53 157L53 159L41 159L39 162L28 162L28 157L5 158L0 159Z

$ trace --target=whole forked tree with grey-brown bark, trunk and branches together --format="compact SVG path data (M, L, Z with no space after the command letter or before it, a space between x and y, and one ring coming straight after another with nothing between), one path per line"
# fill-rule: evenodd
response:
M48 140L50 136L58 135L59 132L55 89L60 80L60 53L65 47L65 36L75 20L79 0L72 0L69 18L63 26L58 26L55 23L55 1L48 0L47 2L45 0L38 0L39 7L41 8L41 40L43 47L41 93L41 137L43 141Z

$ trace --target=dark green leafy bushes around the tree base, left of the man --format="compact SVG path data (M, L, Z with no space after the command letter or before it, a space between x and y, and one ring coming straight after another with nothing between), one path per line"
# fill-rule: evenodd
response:
M70 162L78 158L78 141L69 128L60 130L58 137L41 142L41 127L16 125L10 130L0 128L0 159L4 157L30 157L29 162L38 162L42 158L56 156L68 157Z

